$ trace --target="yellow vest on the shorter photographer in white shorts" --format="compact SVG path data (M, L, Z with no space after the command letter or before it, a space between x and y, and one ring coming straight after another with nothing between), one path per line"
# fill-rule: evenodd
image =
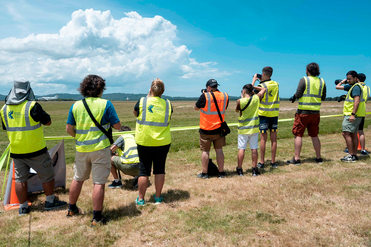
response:
M259 132L259 96L253 95L250 105L242 112L238 118L238 133L253 134ZM243 109L249 98L240 99L240 108Z

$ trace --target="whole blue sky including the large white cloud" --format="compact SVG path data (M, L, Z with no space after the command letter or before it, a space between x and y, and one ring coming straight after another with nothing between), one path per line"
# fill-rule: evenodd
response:
M226 3L1 1L0 94L20 76L37 95L77 93L92 73L104 76L106 93L145 93L159 77L166 95L196 97L214 78L221 91L238 96L253 74L271 66L280 97L290 97L309 62L320 65L330 97L342 94L334 80L349 70L371 79L370 1Z

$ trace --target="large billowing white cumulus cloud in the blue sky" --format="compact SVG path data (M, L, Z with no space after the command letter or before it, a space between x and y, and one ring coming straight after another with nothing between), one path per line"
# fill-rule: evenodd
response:
M109 10L78 10L57 34L1 39L1 84L10 86L14 78L25 77L44 94L72 92L87 74L134 83L159 75L194 79L231 74L219 71L216 62L197 62L185 45L174 45L177 27L163 17L124 14L115 20Z

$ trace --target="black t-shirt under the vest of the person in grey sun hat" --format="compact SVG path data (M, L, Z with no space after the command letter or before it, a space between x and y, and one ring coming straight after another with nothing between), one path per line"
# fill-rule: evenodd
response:
M41 124L47 124L50 121L50 115L47 114L39 103L35 103L35 105L30 110L30 116L32 117L33 121L39 122ZM6 130L6 126L1 118L1 123L3 124L3 129ZM47 151L47 148L43 148L39 151L32 152L32 153L10 153L10 157L14 159L25 159L25 158L33 158L39 155L44 154Z

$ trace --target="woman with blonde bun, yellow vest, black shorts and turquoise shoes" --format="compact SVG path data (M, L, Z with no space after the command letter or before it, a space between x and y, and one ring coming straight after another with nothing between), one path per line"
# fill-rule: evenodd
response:
M165 162L170 149L170 118L173 107L168 99L162 99L165 91L164 82L160 79L152 81L147 97L139 99L134 106L134 116L137 117L135 142L139 156L139 196L135 204L144 205L144 196L151 176L152 163L155 175L155 204L164 201L161 196L165 182Z

